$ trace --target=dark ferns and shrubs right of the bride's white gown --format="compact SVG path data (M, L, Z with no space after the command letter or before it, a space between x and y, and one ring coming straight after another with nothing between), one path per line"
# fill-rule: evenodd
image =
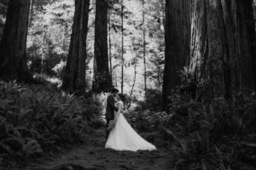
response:
M173 169L228 170L256 167L256 99L210 104L171 97L169 112L135 108L125 117L139 133L174 153Z

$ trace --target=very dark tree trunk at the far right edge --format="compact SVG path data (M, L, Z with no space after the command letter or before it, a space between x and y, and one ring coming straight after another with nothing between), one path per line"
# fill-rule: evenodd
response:
M253 0L238 1L238 16L240 24L241 39L241 88L254 89L256 91L256 35L253 17ZM240 15L241 14L241 15ZM243 62L245 61L246 63Z

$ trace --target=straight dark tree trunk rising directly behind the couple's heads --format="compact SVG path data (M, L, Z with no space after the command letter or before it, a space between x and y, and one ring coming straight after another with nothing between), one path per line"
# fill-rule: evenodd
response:
M108 91L112 82L108 68L108 1L96 0L95 64L92 89L96 93Z

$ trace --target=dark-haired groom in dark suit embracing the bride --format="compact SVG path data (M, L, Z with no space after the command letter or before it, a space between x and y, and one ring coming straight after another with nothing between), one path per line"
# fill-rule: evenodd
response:
M114 98L116 97L116 95L118 93L119 93L119 90L117 88L112 88L111 91L110 91L110 94L108 94L107 107L106 107L106 120L107 120L107 124L106 124L106 140L108 139L108 134L110 132L110 130L108 129L109 122L113 121L113 118L114 118L113 112L119 110L114 105L114 103L115 103Z

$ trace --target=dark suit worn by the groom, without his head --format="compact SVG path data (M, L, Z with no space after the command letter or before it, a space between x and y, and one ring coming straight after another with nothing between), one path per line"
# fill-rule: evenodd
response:
M107 98L107 107L106 107L106 120L107 120L106 139L108 139L108 134L110 132L108 130L108 125L109 125L109 122L112 121L114 118L114 114L113 114L114 111L119 111L119 109L114 105L113 94L109 94Z

